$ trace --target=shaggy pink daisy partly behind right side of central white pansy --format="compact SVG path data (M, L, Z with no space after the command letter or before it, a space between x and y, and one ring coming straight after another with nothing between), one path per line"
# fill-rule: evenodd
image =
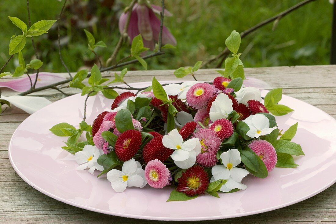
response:
M196 163L203 167L213 167L217 163L216 154L221 140L210 129L199 129L192 138L198 138L201 143L201 153L196 156Z

